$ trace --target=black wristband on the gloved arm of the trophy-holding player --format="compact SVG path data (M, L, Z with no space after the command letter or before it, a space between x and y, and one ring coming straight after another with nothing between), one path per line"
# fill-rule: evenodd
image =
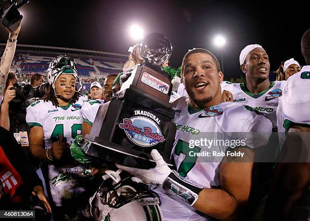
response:
M200 191L204 188L190 183L176 171L172 170L163 183L163 189L171 194L177 195L180 199L192 206L197 201Z

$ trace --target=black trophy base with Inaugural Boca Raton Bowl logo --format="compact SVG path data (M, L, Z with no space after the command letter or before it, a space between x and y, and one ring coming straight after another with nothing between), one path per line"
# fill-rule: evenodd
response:
M169 159L176 133L171 104L130 85L118 99L101 105L85 147L89 155L137 168L155 166L150 155L157 149Z

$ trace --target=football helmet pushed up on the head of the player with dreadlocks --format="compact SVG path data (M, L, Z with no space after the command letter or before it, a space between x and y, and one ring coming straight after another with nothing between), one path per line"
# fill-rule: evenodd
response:
M60 74L72 74L75 78L75 92L79 92L82 89L82 82L78 76L78 69L76 69L76 62L73 58L66 55L57 56L51 61L47 70L47 78L50 85L55 90L55 82Z

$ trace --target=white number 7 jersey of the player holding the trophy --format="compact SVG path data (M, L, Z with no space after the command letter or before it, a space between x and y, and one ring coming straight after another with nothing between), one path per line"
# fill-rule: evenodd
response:
M254 149L266 144L272 131L272 123L266 117L250 107L232 102L224 102L204 110L193 110L183 99L183 102L178 102L176 106L174 122L177 132L172 158L177 171L192 183L204 188L221 186L219 166L223 159L222 153L228 151L229 146L234 148L229 141L239 140L235 147ZM251 132L260 132L260 135L264 136L253 136ZM209 141L195 143L201 139ZM160 195L165 220L208 218L161 187L154 190Z

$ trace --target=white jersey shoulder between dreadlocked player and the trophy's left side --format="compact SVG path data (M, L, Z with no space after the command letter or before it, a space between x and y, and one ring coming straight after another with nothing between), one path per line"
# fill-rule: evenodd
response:
M93 125L98 109L102 104L104 104L104 100L100 99L85 101L81 109L83 121Z

